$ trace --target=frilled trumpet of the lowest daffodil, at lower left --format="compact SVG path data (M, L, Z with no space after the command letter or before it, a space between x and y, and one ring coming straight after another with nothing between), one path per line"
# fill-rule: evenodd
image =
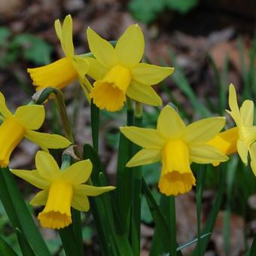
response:
M66 181L57 180L50 186L47 203L38 220L45 228L62 228L72 223L71 204L73 187Z

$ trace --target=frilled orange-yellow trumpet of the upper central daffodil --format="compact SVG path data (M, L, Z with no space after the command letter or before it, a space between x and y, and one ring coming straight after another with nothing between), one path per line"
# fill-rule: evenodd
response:
M102 80L93 84L90 97L101 109L117 111L123 108L126 101L126 90L130 85L132 76L129 69L114 66Z

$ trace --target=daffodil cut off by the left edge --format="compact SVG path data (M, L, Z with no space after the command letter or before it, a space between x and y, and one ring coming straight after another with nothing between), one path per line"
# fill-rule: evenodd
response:
M38 133L44 122L45 112L42 105L24 105L11 114L5 105L5 96L0 93L0 166L9 164L10 156L14 148L23 137L40 145L41 148L66 148L71 142L68 139L48 133Z

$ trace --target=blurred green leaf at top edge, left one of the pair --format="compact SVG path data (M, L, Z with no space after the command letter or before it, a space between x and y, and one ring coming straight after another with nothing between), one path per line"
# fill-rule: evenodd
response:
M128 8L136 20L151 23L163 11L165 0L132 0Z

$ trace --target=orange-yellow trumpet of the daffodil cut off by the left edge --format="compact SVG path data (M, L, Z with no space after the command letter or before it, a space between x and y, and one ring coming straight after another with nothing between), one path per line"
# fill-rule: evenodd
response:
M12 151L23 139L25 133L26 128L13 117L2 123L0 126L0 166L8 166Z

